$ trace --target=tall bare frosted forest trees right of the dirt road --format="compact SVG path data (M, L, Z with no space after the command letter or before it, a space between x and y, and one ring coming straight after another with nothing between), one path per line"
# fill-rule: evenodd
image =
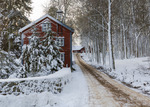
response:
M92 60L105 64L114 59L150 55L149 0L82 1L77 27L82 44L92 52ZM111 54L110 54L111 53Z

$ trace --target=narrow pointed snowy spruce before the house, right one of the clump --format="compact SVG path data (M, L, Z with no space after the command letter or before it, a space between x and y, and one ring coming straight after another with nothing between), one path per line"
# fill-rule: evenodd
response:
M55 72L63 67L63 62L60 60L61 48L54 40L54 32L48 31L42 41L42 47L44 48L43 55L45 58L45 65L51 69L51 72ZM46 39L45 39L46 38Z

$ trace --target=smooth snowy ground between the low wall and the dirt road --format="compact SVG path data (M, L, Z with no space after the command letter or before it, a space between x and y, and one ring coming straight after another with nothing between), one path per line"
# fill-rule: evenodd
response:
M76 64L74 68L76 71L72 73L72 81L64 87L62 93L0 95L0 107L87 107L87 83L80 68Z

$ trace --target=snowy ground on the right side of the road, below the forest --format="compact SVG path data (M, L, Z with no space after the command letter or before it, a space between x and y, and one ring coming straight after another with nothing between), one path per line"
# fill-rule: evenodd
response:
M82 57L88 64L97 69L101 68L100 66L102 65L91 62L86 54L82 54ZM148 57L116 59L116 70L111 72L107 70L108 64L106 63L106 66L103 66L106 69L103 72L122 83L138 89L142 93L150 95L150 59Z

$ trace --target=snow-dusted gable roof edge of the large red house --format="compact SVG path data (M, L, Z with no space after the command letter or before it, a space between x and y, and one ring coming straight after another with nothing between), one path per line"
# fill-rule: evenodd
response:
M65 28L69 29L71 32L74 32L74 29L72 29L71 27L65 25L64 23L60 22L59 20L57 20L57 19L53 18L52 16L46 14L46 15L42 16L41 18L39 18L39 19L37 19L37 20L31 22L30 24L26 25L25 27L19 29L19 33L22 32L22 31L24 31L24 30L26 30L27 28L29 28L29 27L35 25L36 23L38 23L39 21L41 21L42 19L44 19L44 18L46 18L46 17L48 17L48 18L50 18L51 20L55 21L56 23L58 23L58 24L64 26Z

